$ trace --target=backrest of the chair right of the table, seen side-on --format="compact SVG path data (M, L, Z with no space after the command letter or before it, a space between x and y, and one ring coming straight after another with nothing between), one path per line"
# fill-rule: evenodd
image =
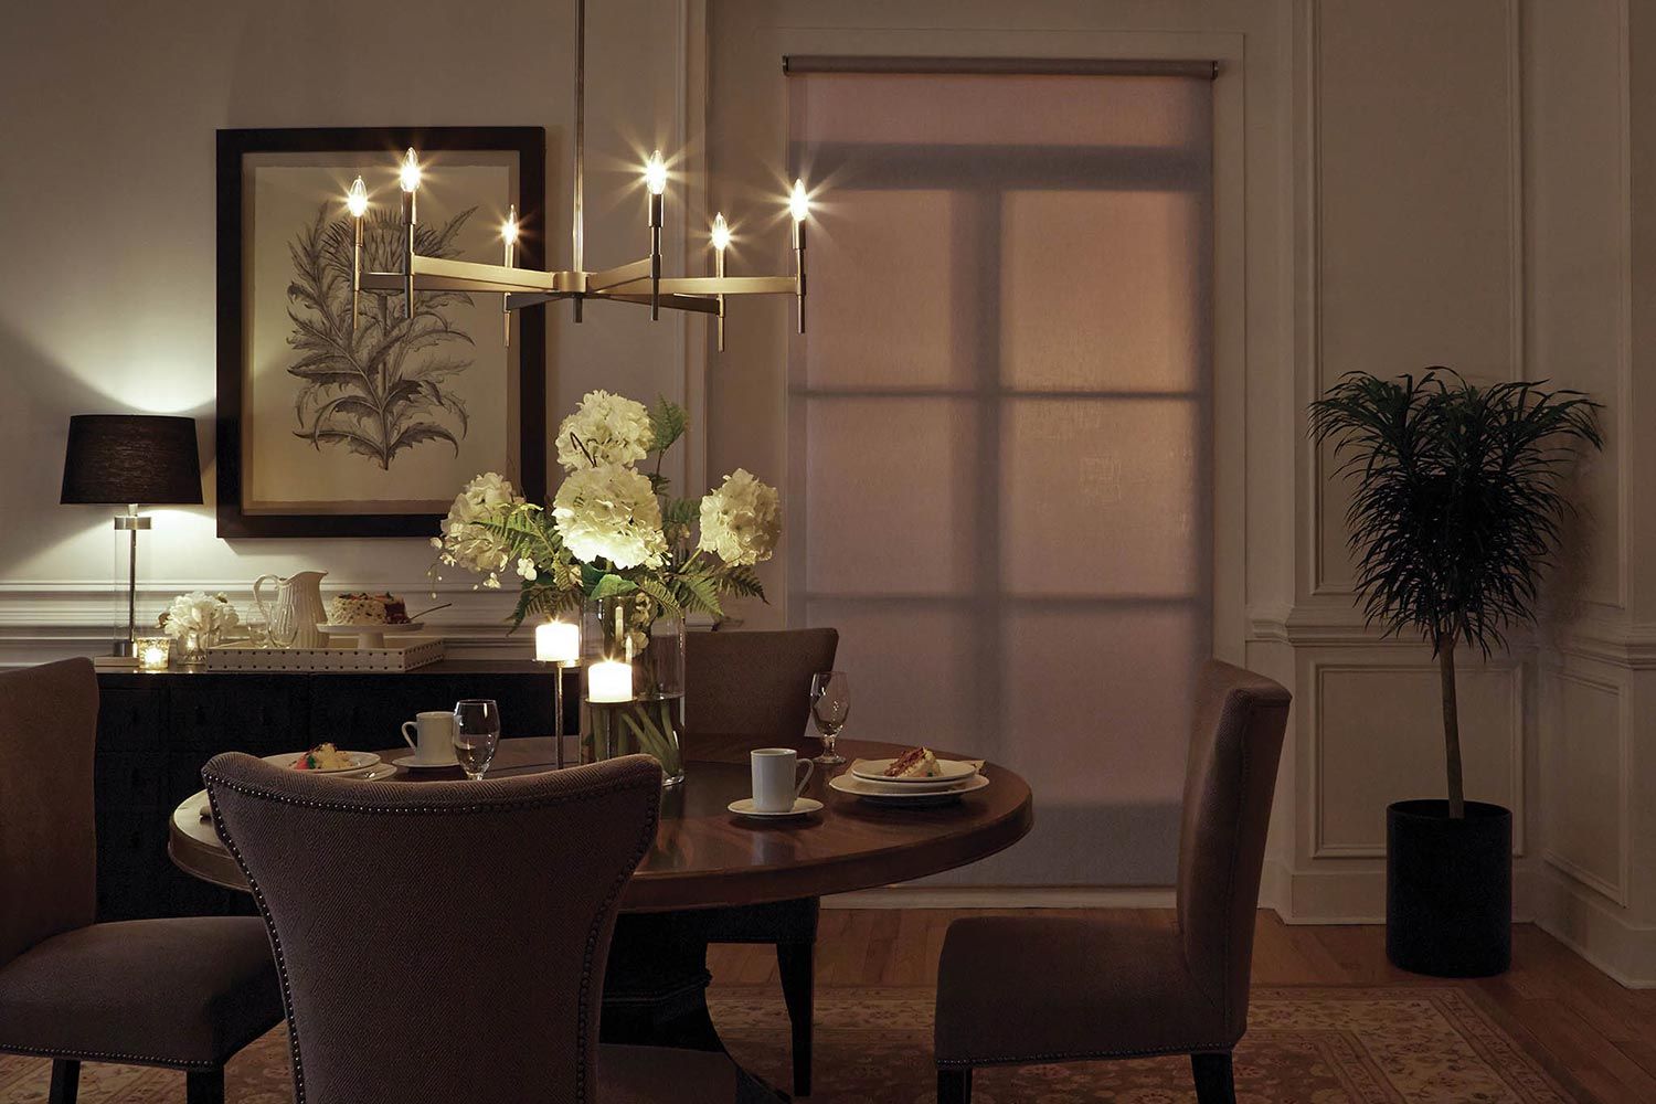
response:
M1179 934L1191 972L1239 1034L1288 702L1270 679L1219 660L1204 664L1197 679L1179 834Z

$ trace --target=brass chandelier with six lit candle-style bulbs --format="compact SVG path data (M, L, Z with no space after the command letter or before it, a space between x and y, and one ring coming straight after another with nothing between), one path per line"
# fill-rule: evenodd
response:
M657 149L643 166L647 192L649 253L636 262L588 271L585 225L586 177L586 0L575 3L575 190L573 190L573 266L558 271L517 268L513 253L518 238L517 207L507 214L500 227L505 258L500 265L424 257L414 250L414 227L419 223L421 164L409 149L397 166L397 182L402 189L402 271L363 271L363 217L368 214L368 189L356 177L346 192L346 210L354 223L354 248L351 263L351 326L354 329L363 291L369 295L402 295L404 313L414 316L417 291L469 291L495 293L502 298L503 334L512 339L512 311L556 300L575 305L575 321L581 321L581 305L586 300L613 303L638 303L649 306L651 319L661 318L661 308L714 314L719 349L724 349L725 296L732 295L792 295L798 331L805 333L805 220L810 215L810 197L803 180L793 182L788 195L788 214L793 222L793 275L792 276L730 276L725 273L725 250L730 247L730 227L724 212L714 217L709 243L714 250L714 275L662 276L661 228L667 207L667 164Z

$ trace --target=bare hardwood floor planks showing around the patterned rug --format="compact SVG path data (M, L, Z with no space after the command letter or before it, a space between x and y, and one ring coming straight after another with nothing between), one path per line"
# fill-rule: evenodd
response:
M1038 910L1010 910L1030 915ZM949 922L984 910L825 909L816 938L816 985L936 986ZM1134 924L1172 925L1171 910L1101 910ZM1656 1101L1656 990L1625 990L1540 929L1520 924L1512 970L1467 982L1532 1053L1575 1076L1600 1104ZM777 983L772 947L709 948L714 988ZM1255 985L1432 985L1386 962L1384 929L1288 927L1260 912ZM778 988L780 1000L780 988Z

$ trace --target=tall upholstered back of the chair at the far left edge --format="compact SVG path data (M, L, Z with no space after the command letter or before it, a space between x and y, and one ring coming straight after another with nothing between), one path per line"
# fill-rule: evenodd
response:
M94 919L96 743L89 659L0 674L0 967Z

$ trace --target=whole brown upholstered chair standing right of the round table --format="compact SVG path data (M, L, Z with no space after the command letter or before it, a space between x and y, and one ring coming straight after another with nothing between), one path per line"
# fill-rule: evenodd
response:
M1191 1054L1201 1104L1234 1104L1259 872L1288 692L1209 662L1184 775L1177 925L1091 917L956 920L937 977L937 1099L972 1068Z

